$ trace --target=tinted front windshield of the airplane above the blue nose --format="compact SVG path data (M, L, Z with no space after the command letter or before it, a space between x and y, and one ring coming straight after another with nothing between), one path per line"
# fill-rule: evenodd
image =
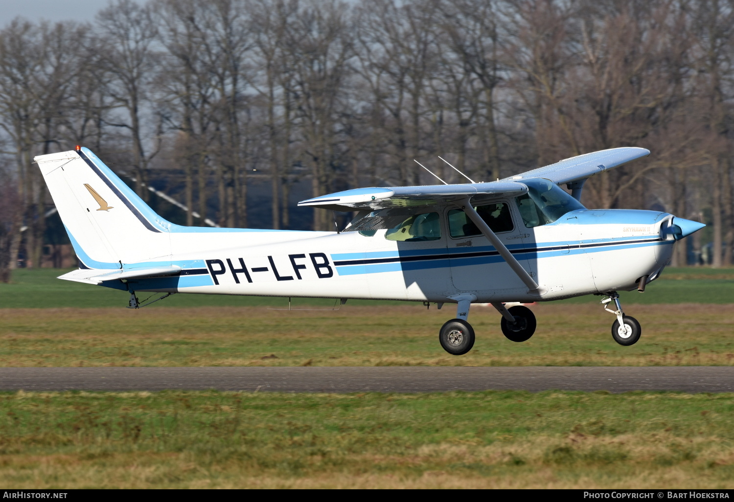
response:
M548 180L524 180L528 193L517 197L517 207L527 228L548 225L566 213L584 209L578 200Z

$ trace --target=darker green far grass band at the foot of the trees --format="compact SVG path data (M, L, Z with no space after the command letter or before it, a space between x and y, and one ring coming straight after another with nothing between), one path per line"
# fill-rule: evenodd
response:
M124 307L128 293L68 280L59 280L68 270L18 269L12 283L0 283L0 308ZM734 303L734 269L680 268L666 269L662 277L650 283L644 294L621 293L627 304L659 303ZM139 299L147 295L139 294ZM563 303L596 303L594 296L562 300ZM404 302L350 300L349 305L399 305ZM333 299L296 299L294 308L305 305L332 308ZM288 299L272 297L234 297L210 294L175 294L150 308L221 306L269 306L287 308Z

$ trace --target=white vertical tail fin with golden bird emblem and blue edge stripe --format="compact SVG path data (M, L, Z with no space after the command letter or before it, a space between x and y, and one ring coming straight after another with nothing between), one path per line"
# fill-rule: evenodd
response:
M170 261L172 224L87 148L37 156L80 266Z

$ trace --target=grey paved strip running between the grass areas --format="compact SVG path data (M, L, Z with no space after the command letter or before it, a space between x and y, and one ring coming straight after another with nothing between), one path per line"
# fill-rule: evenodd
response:
M0 390L680 390L734 392L734 367L0 368Z

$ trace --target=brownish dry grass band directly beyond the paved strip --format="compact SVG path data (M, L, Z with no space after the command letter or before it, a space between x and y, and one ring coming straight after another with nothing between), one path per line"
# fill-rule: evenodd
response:
M379 366L732 365L734 305L629 305L642 338L611 338L600 305L534 305L537 332L514 343L473 307L474 348L451 356L437 332L455 310L421 305L281 311L265 307L0 309L0 365Z

